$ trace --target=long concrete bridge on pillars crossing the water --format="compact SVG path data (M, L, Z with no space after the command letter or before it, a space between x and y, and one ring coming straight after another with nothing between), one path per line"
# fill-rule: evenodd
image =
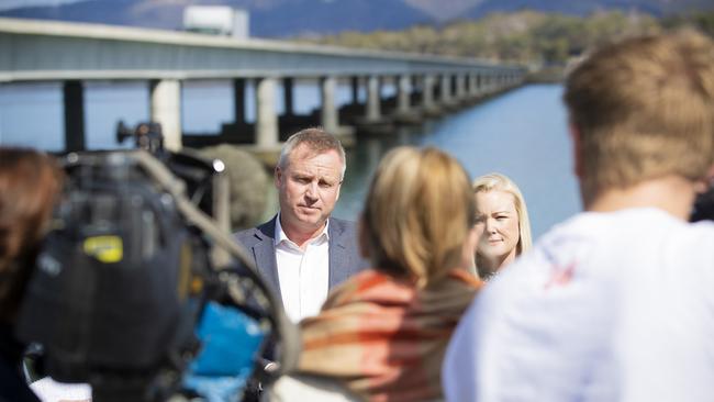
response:
M255 82L256 121L249 142L275 148L283 121L295 121L295 79L316 79L321 91L317 124L349 131L344 123L367 125L410 121L453 109L521 83L525 69L483 60L415 54L347 49L266 40L65 22L0 19L0 85L62 81L66 150L85 148L83 82L145 80L150 119L161 124L166 146L182 146L181 82L225 79L233 85L234 124L222 141L245 132L246 80ZM341 122L335 102L338 82L352 87L353 116ZM381 99L380 86L391 81L397 94ZM276 89L283 88L283 115ZM358 92L367 96L360 102ZM343 123L343 124L341 124ZM347 130L345 130L347 129ZM245 142L245 141L244 141Z

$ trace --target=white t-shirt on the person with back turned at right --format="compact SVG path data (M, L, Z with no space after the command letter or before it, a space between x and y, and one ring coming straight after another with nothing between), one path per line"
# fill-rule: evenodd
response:
M587 212L477 297L448 401L714 401L714 224Z

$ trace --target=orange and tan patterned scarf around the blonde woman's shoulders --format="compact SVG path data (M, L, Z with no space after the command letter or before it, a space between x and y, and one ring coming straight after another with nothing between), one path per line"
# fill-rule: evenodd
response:
M367 270L302 321L299 371L336 378L369 401L443 398L446 345L481 282L462 270L417 289Z

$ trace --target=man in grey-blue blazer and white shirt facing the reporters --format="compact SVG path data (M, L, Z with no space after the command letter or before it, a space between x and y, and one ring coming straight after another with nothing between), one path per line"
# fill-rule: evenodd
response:
M345 161L339 141L323 130L293 134L275 169L280 212L235 235L294 322L316 315L330 289L367 266L355 224L330 217Z

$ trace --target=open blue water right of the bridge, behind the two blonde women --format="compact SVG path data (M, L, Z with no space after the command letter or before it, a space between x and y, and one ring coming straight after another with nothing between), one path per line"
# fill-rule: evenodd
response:
M360 139L347 152L335 215L356 219L379 158L398 145L431 145L454 155L471 178L492 171L521 188L534 238L579 212L566 110L559 85L533 85L389 137Z

